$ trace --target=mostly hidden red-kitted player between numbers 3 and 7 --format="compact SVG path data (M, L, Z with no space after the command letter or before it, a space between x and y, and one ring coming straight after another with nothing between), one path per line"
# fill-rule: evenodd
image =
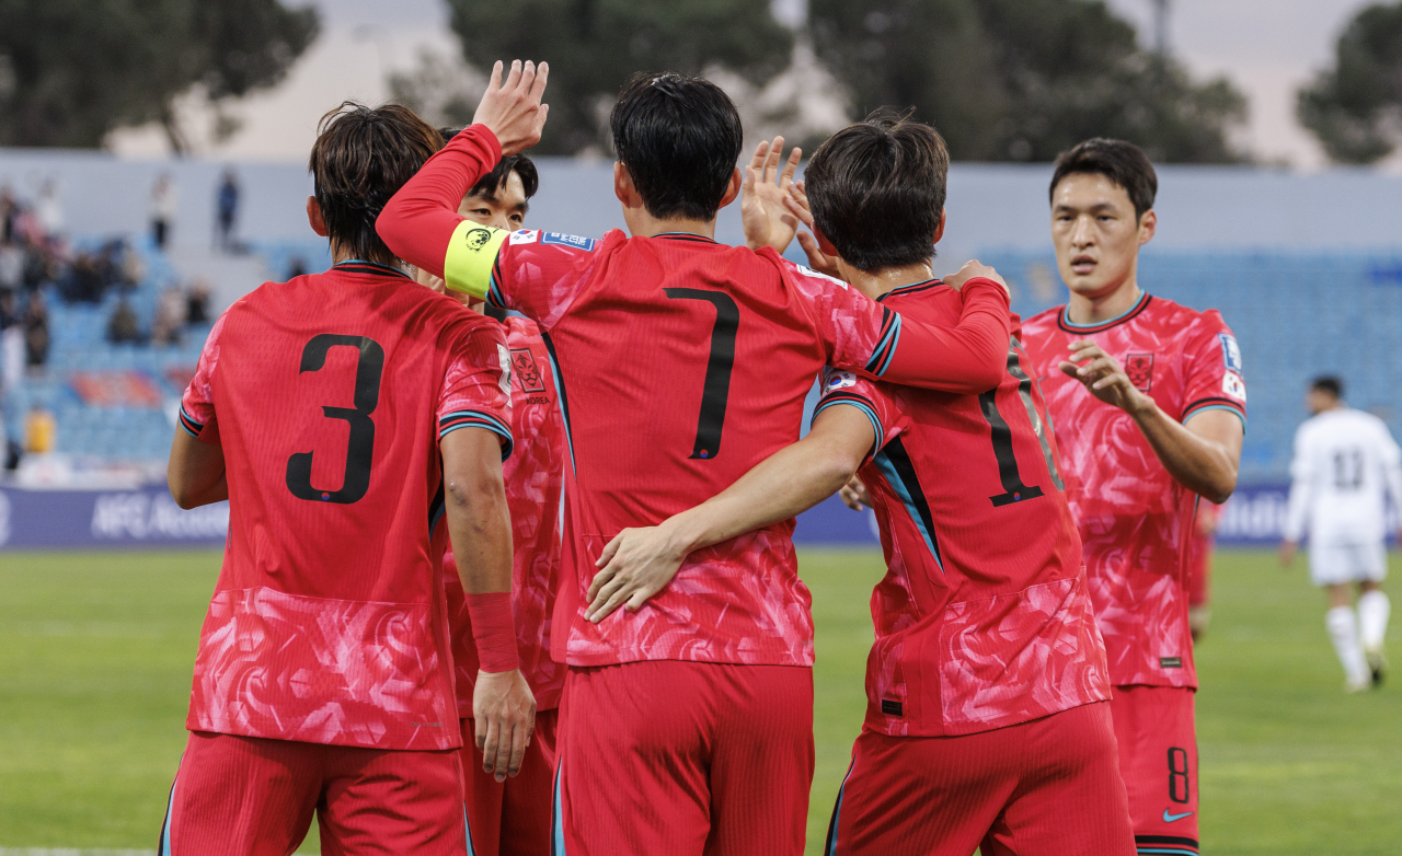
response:
M444 141L457 130L444 132ZM524 226L530 198L540 178L524 154L503 157L463 198L457 212L481 226L517 230ZM435 287L443 280L428 276ZM423 282L421 279L421 282ZM450 291L465 298L465 294ZM470 304L481 311L482 304ZM550 354L534 321L499 318L512 359L512 457L502 465L506 504L512 514L512 607L522 674L536 696L536 729L520 772L498 782L484 769L482 751L472 741L472 685L478 658L471 614L457 583L453 553L444 556L449 626L457 670L457 705L463 726L464 803L467 835L475 856L548 856L550 810L554 797L555 731L565 667L550 656L550 618L559 569L559 517L564 502L565 420L555 398Z

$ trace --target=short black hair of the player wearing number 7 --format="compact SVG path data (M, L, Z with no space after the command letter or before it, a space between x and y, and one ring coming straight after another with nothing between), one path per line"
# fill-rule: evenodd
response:
M634 74L608 126L649 214L715 217L744 144L740 113L721 87L672 71Z

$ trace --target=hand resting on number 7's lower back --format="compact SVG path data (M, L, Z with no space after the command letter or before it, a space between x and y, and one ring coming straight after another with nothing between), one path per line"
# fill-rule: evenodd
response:
M618 607L637 612L667 587L686 558L687 552L676 545L666 527L618 532L594 563L599 573L589 584L585 618L599 623Z

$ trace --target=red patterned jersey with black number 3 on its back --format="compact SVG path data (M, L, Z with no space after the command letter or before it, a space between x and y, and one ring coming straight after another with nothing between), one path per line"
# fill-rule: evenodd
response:
M496 322L398 270L266 283L215 325L181 426L223 447L229 541L192 731L383 750L461 745L439 440L510 451Z

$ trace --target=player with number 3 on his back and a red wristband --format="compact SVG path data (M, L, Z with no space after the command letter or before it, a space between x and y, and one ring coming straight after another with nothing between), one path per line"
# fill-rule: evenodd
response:
M488 111L508 146L538 139L526 94ZM227 497L230 531L161 853L290 853L313 811L324 852L465 852L449 539L481 651L475 737L496 776L520 765L509 353L374 233L439 146L401 106L328 113L307 214L335 266L234 303L185 391L171 493Z

